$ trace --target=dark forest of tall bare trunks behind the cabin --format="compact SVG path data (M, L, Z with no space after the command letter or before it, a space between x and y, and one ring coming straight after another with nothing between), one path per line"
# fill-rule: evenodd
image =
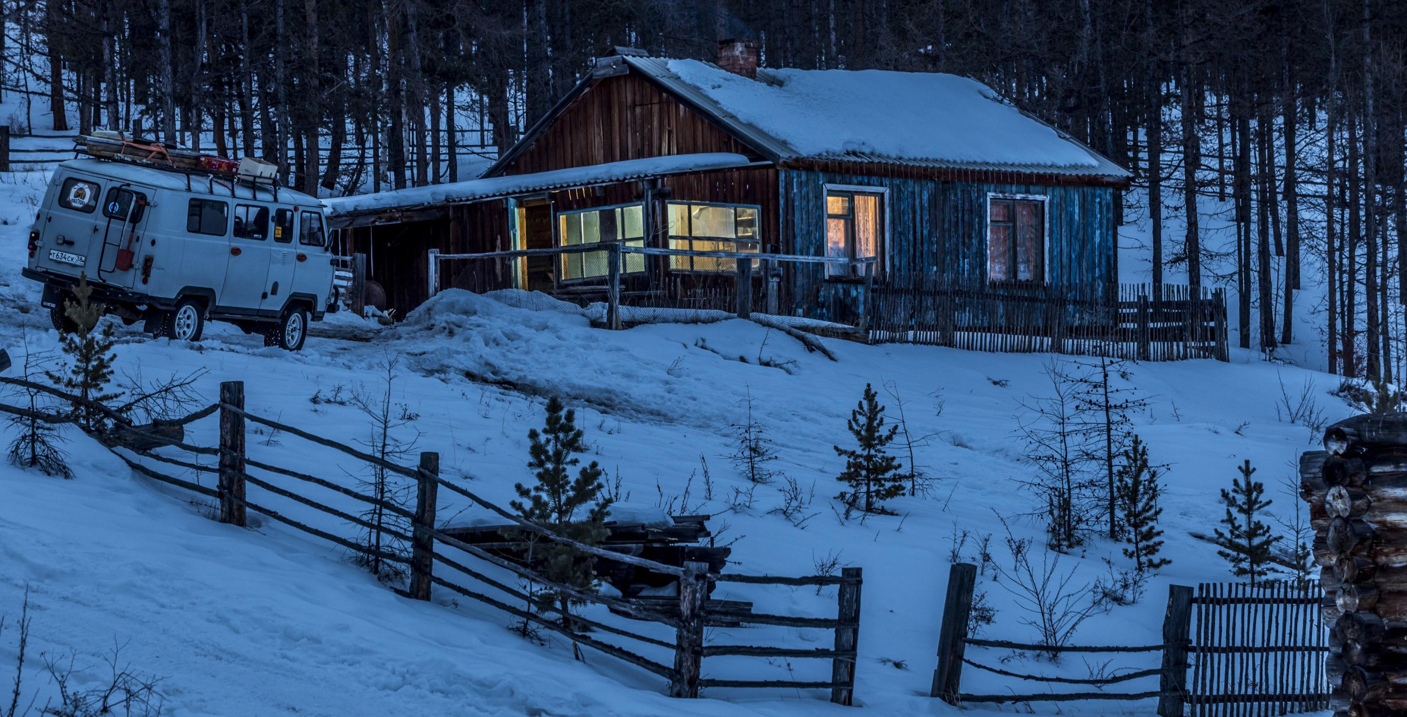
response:
M1387 0L38 0L3 3L17 131L141 130L259 154L315 190L453 182L543 116L594 56L976 77L1135 175L1128 221L1165 268L1233 286L1247 348L1327 344L1403 372L1407 3ZM62 100L61 100L62 97ZM896 99L900 100L902 99ZM68 103L68 116L58 111ZM204 132L191 132L191 128ZM212 146L208 146L212 144ZM310 151L317 146L318 151ZM1209 242L1195 197L1235 241ZM1165 228L1168 227L1168 228ZM1175 227L1175 231L1169 231ZM1185 230L1183 230L1185 227ZM1324 289L1320 337L1294 292ZM1180 280L1179 280L1180 283ZM1303 318L1303 317L1301 317ZM1327 339L1327 341L1325 341Z

